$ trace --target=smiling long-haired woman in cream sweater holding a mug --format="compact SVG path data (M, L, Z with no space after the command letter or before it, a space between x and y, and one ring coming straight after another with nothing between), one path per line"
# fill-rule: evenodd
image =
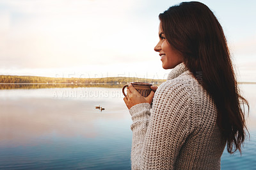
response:
M241 152L246 126L240 104L248 105L223 29L198 2L172 6L159 19L155 50L163 68L173 70L147 98L129 84L124 101L133 121L132 169L220 169L226 144L229 153Z

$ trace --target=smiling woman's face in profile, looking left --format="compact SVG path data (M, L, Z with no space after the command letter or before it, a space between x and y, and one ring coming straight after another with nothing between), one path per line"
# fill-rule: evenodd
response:
M164 69L174 68L175 66L182 63L183 58L180 52L172 47L165 38L162 30L161 22L159 24L159 42L154 48L156 52L159 52L161 56L162 66Z

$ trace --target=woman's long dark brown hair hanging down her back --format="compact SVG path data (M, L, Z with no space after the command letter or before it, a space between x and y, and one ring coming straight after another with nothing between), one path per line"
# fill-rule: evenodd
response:
M244 105L240 95L223 29L203 3L186 2L159 14L168 42L182 53L184 64L214 100L217 123L229 153L239 150L246 135ZM198 79L197 79L198 80ZM243 105L243 109L241 105ZM247 130L248 132L248 130Z

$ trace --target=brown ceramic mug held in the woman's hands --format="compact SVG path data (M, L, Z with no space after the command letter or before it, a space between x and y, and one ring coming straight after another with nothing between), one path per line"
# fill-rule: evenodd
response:
M148 95L150 94L150 91L152 90L150 88L150 86L152 86L153 84L147 83L147 82L131 82L132 86L141 94L141 96L143 97L148 97ZM129 85L126 84L122 91L124 96L126 97L126 94L124 92L124 89L126 87L128 87Z

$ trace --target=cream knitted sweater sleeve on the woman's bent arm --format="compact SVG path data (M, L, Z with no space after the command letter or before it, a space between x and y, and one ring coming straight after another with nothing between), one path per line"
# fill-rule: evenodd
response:
M194 129L193 100L182 84L157 89L154 104L134 105L132 169L174 169L180 148ZM152 114L150 116L150 114Z

